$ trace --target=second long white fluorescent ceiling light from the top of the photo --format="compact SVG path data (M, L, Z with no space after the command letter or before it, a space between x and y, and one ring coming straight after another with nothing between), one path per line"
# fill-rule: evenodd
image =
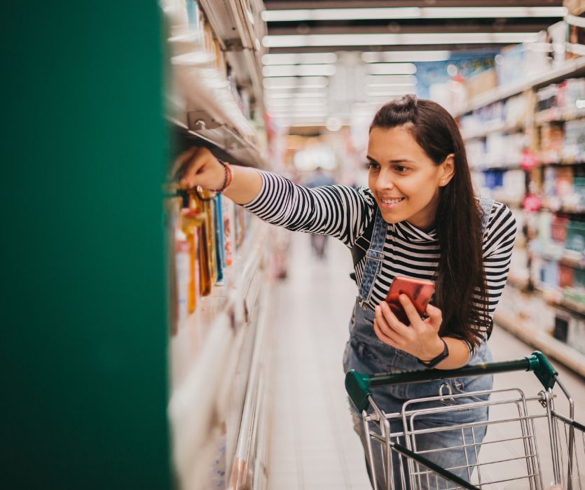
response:
M369 46L406 44L530 43L536 32L441 32L438 34L292 34L264 36L266 48L310 46Z

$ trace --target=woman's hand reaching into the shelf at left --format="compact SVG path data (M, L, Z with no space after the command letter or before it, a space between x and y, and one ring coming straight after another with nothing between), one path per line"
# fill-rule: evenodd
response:
M172 175L179 175L181 186L216 190L225 182L226 169L207 148L191 148L174 161Z

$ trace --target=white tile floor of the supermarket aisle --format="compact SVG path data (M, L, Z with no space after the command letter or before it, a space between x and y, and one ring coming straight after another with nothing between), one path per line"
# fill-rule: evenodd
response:
M371 486L350 421L341 365L357 294L348 276L351 256L330 239L326 260L319 261L311 254L308 235L291 239L289 277L277 284L274 295L268 488L367 490ZM533 350L500 328L490 346L495 360L521 358ZM558 369L574 395L576 419L583 421L585 382ZM495 386L517 380L518 374L502 374ZM522 376L521 386L530 395L539 391L530 374Z

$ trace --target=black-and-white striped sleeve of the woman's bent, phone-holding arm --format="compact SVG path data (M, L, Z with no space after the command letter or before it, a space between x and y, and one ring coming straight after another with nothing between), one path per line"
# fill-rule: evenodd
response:
M516 218L505 204L496 202L492 208L486 233L483 236L483 271L488 283L488 324L493 324L493 315L508 280L510 260L516 240ZM474 294L474 306L479 307L479 290ZM490 329L483 332L490 334Z

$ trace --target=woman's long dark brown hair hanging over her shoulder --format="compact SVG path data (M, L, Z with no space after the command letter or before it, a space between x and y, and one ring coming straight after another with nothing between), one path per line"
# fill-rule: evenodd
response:
M436 233L441 255L436 271L436 306L443 313L441 335L467 340L475 348L490 328L488 288L483 272L482 211L472 186L463 139L443 107L415 95L382 106L370 126L406 125L435 165L455 155L455 175L440 188ZM473 294L479 293L479 301ZM476 305L474 306L474 302Z

